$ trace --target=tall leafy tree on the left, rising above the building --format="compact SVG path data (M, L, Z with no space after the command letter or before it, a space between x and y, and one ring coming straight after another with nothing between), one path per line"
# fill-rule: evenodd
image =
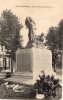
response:
M6 9L1 13L0 41L2 45L5 45L7 51L11 50L10 55L12 60L15 60L15 52L18 47L21 47L20 30L22 27L18 17L11 10Z

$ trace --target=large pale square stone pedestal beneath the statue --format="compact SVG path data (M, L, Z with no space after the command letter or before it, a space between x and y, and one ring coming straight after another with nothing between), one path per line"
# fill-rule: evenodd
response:
M16 53L16 71L32 72L33 81L46 70L52 73L52 54L50 50L39 48L20 49Z

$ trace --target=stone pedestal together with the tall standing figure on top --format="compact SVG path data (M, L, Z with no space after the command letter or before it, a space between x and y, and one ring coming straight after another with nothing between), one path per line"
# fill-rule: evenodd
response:
M35 24L30 17L26 18L25 25L29 30L29 41L24 49L19 49L16 52L16 71L32 73L33 82L38 78L40 71L47 70L52 73L52 53L50 50L36 48L34 42L34 27Z

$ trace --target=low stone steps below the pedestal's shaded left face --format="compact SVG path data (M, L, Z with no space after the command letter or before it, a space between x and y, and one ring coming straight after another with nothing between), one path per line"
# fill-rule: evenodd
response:
M15 72L12 77L5 79L26 85L33 85L33 76L31 72Z

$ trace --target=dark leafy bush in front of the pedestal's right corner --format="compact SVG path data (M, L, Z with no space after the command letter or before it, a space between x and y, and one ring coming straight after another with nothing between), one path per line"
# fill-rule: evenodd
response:
M45 96L56 96L56 88L59 80L55 79L54 76L39 75L39 79L34 84L34 88L38 90L38 94L44 94Z

